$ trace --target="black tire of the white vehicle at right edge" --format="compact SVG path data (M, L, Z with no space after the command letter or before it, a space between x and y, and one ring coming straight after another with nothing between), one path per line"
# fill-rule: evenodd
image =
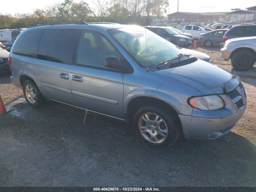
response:
M254 65L255 55L250 51L239 51L231 58L231 64L235 70L247 71Z

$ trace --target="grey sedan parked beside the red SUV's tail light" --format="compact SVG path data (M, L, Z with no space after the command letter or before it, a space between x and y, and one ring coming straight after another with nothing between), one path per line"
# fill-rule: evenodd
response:
M200 38L198 39L198 43L206 47L211 47L214 45L220 46L220 44L222 43L222 38L227 31L227 29L220 29L201 34Z

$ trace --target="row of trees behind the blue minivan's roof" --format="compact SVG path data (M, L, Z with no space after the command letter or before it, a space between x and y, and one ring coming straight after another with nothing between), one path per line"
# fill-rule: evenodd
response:
M64 0L28 14L0 13L0 29L78 21L148 25L153 18L162 17L168 6L168 0L93 0L92 7L84 1Z

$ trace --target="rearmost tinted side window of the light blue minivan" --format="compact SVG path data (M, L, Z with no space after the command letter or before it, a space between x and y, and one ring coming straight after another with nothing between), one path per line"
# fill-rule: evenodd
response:
M37 57L38 44L42 30L23 32L12 52L30 57Z

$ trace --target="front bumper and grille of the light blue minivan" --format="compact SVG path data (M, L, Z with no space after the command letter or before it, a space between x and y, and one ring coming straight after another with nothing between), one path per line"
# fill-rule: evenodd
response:
M219 94L225 102L225 107L220 110L194 108L192 116L179 114L184 137L186 139L216 139L232 130L243 116L247 104L242 84L236 90L239 94L232 95L234 96L231 96L232 98L228 94Z

